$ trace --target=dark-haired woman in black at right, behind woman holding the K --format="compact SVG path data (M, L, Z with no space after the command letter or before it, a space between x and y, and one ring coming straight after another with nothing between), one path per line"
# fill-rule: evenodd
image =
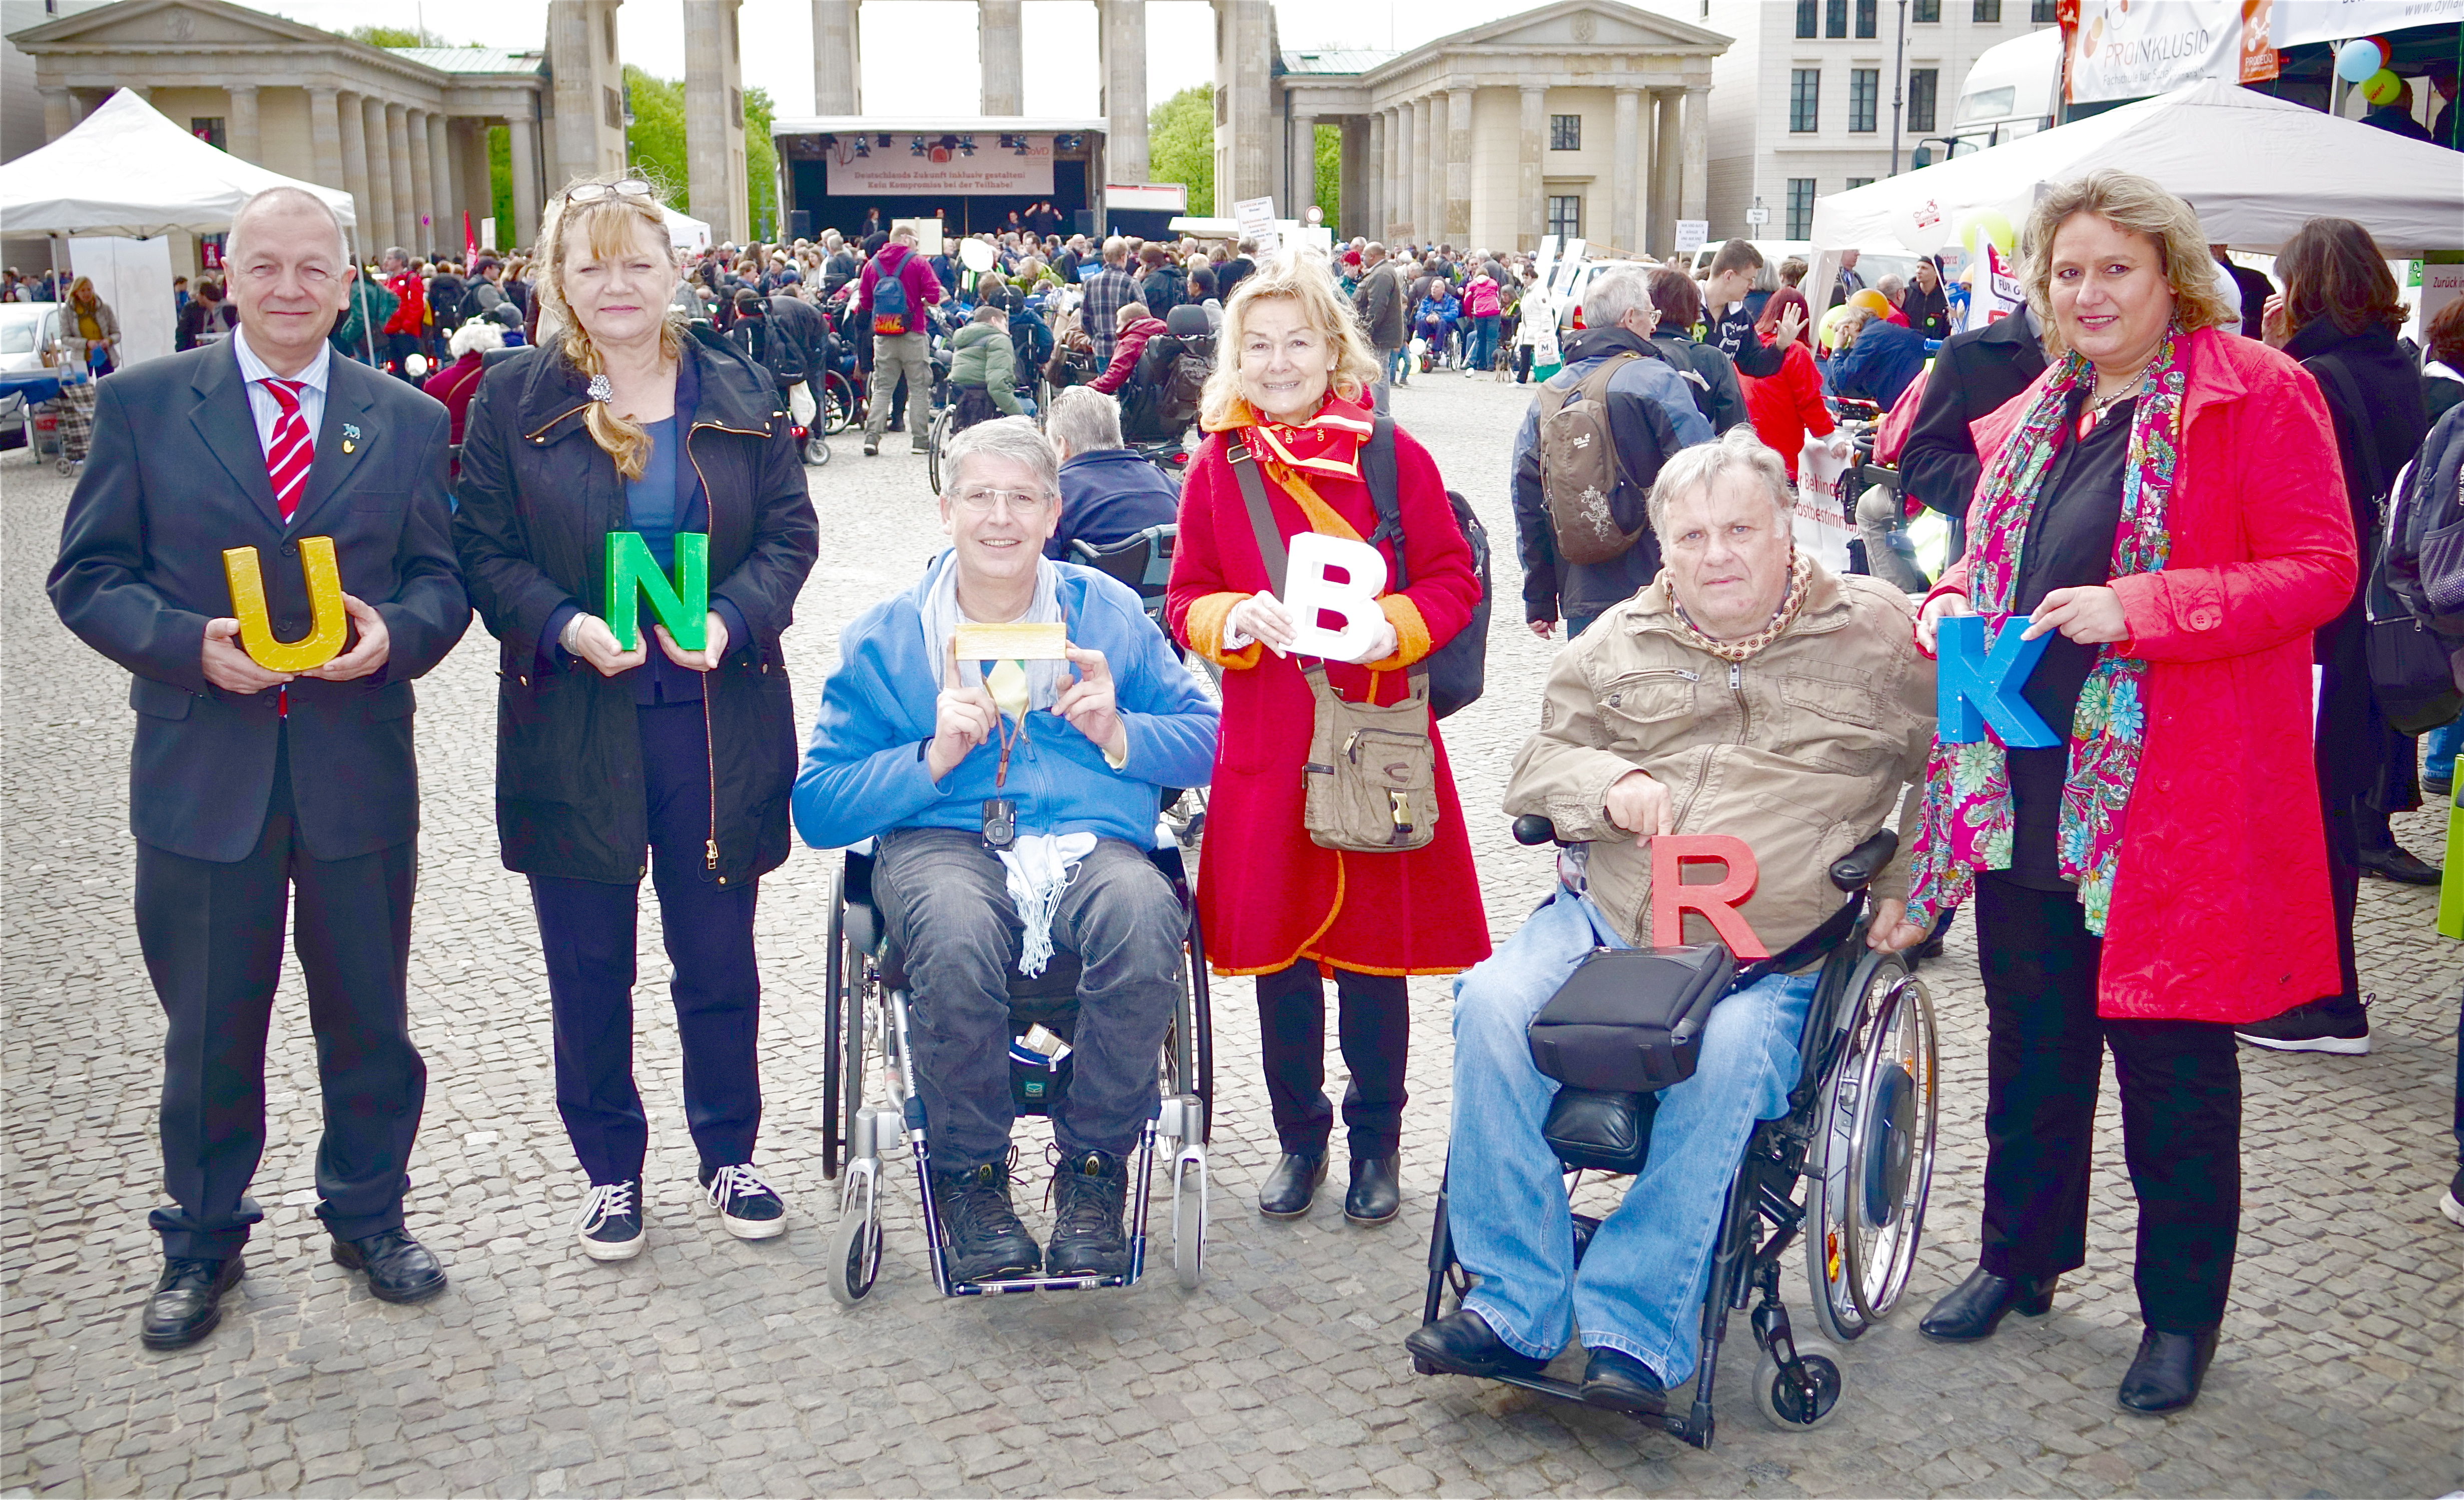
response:
M2370 1049L2353 963L2353 909L2361 874L2405 884L2437 884L2439 872L2410 855L2388 830L2388 813L2422 805L2412 736L2378 714L2370 695L2365 599L2385 542L2383 502L2395 475L2422 446L2422 372L2397 345L2405 303L2370 232L2351 219L2311 219L2277 254L2284 293L2267 298L2262 333L2319 382L2343 488L2353 505L2361 576L2343 613L2319 628L2319 796L2326 810L2328 887L2336 894L2336 938L2343 993L2296 1005L2274 1020L2240 1027L2242 1042L2277 1052Z

